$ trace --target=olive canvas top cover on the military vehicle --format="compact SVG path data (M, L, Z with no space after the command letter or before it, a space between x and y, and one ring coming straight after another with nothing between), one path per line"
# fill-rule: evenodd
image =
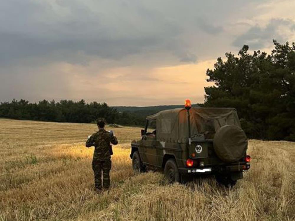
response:
M210 137L224 125L241 127L234 108L191 108L189 113L191 137L196 134ZM156 121L158 141L186 143L189 137L187 116L186 109L176 108L160 111L148 116L147 119Z

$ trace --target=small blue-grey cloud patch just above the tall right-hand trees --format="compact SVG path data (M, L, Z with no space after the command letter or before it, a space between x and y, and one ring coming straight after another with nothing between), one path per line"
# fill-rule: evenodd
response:
M266 47L273 39L279 42L284 42L286 39L284 33L279 32L280 26L292 28L292 21L284 19L272 19L265 27L261 27L256 24L251 27L247 32L240 35L235 39L233 45L236 47L242 47L243 45L249 45L251 49L261 49Z

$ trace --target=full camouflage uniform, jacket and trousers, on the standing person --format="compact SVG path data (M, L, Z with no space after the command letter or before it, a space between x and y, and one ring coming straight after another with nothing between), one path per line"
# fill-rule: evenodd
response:
M109 172L112 167L111 155L109 152L110 143L116 145L118 140L111 132L108 132L103 128L100 128L98 132L92 134L86 141L86 147L95 147L92 169L94 171L94 181L97 189L102 188L101 170L103 173L104 188L109 188L110 186Z

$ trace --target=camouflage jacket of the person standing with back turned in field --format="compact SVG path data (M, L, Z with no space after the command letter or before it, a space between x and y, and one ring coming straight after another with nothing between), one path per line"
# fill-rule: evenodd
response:
M98 132L92 134L86 141L86 147L95 147L93 159L104 160L111 158L109 153L110 143L114 145L118 144L117 138L111 132L99 129Z

